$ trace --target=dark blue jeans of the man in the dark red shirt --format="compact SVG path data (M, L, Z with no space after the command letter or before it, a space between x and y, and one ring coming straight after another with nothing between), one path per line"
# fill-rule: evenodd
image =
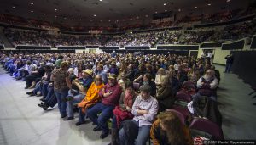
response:
M102 128L103 132L108 132L108 120L113 116L114 106L96 103L92 108L87 110L90 120ZM98 116L98 114L102 113Z

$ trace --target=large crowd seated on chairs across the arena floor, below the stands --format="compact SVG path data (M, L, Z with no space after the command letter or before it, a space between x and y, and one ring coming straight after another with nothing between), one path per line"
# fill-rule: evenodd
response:
M107 53L0 56L3 68L17 80L25 80L25 89L32 89L28 95L43 96L38 107L57 105L66 121L74 120L74 109L78 109L76 125L91 120L93 131L102 131L100 138L108 137L111 128L111 144L145 144L149 137L156 144L191 144L189 126L175 112L166 111L175 109L177 96L188 82L197 87L197 92L189 93L192 120L193 116L207 118L221 126L219 76L215 75L219 73L206 58L131 53L115 57ZM214 104L215 111L204 110L208 103Z

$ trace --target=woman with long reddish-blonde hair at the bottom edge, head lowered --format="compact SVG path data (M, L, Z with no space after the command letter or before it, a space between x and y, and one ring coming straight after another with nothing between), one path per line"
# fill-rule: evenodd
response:
M183 125L176 114L160 113L151 126L150 137L154 145L192 145L188 127Z

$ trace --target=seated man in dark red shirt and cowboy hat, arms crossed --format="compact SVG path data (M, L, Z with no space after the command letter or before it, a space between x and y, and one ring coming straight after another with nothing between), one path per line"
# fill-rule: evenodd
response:
M96 125L93 131L102 131L101 138L108 137L108 120L113 116L113 109L119 103L119 98L122 93L122 87L119 86L116 80L117 76L110 74L108 76L108 84L99 92L102 97L102 103L96 103L92 108L88 109L87 115ZM101 115L97 115L100 114Z

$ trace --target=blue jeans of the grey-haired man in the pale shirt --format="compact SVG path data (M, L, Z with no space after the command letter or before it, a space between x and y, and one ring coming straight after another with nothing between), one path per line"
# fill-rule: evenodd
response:
M139 127L139 123L135 120L134 121L135 124L137 124L137 127ZM146 142L149 139L150 136L150 128L151 125L143 125L139 127L139 131L138 131L138 135L137 138L132 138L132 140L135 140L135 145L146 145ZM126 144L126 136L125 136L125 130L124 128L120 129L119 131L119 141L120 144Z

